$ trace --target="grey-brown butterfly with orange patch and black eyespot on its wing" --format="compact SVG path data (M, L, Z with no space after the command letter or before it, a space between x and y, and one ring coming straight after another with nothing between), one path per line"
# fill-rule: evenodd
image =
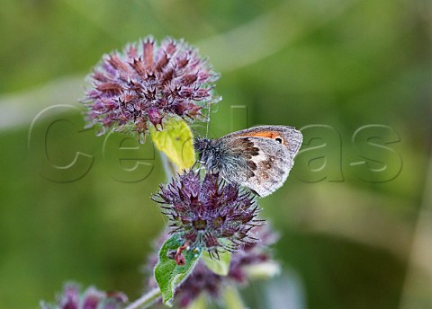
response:
M193 146L207 172L266 197L286 181L302 146L302 132L288 126L258 126L219 139L198 137Z

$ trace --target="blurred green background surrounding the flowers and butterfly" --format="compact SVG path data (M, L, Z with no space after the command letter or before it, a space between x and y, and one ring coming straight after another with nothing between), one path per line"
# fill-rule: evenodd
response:
M165 225L148 199L162 165L149 141L121 152L136 141L84 131L77 101L103 53L148 34L184 38L221 73L211 137L309 126L291 177L260 201L282 235L284 275L244 290L250 308L281 296L293 308L432 308L428 0L1 7L1 308L35 308L68 279L131 300L142 291L140 269ZM368 131L375 145L358 145L356 130L371 124L386 127ZM77 151L86 159L65 168ZM126 172L136 159L148 165ZM351 164L361 161L363 170Z

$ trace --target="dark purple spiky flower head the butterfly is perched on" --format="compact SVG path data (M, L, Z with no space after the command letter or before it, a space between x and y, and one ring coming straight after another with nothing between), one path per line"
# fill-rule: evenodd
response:
M219 250L233 252L255 243L250 230L263 223L257 219L255 195L222 181L217 174L202 178L198 171L184 172L161 186L153 199L163 204L170 234L179 234L192 248L204 248L216 256Z

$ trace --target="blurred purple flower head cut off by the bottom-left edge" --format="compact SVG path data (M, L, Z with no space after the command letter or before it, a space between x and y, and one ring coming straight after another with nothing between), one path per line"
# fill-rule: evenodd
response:
M67 284L61 295L57 296L56 304L40 303L41 309L120 309L128 301L128 297L119 292L101 292L88 287L80 293L76 284Z

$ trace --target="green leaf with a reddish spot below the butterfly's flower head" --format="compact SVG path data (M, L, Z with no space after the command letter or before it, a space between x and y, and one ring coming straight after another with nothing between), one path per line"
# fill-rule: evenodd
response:
M168 258L168 252L177 250L184 241L178 235L172 235L166 240L159 251L159 260L155 267L155 278L162 292L164 304L172 306L175 288L187 278L199 259L201 252L196 249L186 249L183 252L185 265L180 266L175 260Z

